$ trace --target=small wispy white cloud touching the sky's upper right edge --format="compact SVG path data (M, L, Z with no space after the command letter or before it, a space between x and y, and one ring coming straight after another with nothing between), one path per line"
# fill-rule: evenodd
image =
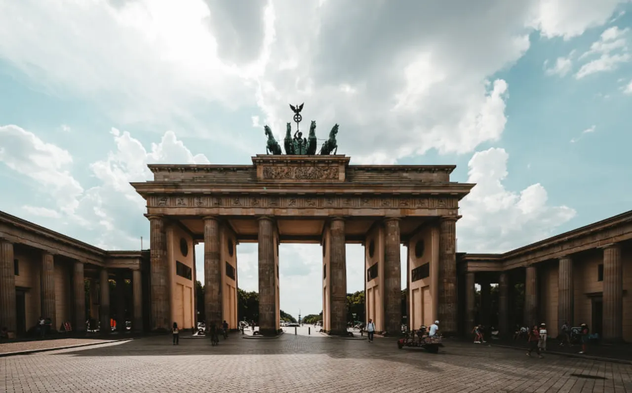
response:
M599 57L583 64L575 74L575 78L581 79L595 73L613 71L618 68L619 64L632 59L626 40L628 33L629 28L621 30L616 26L604 30L599 40L593 42L590 49L583 53L580 59Z

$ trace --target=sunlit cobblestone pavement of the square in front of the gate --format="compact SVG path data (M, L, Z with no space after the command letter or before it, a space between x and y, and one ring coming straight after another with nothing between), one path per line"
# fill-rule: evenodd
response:
M163 336L0 358L0 392L632 393L632 365L463 342L430 354L394 339L240 336L216 347Z

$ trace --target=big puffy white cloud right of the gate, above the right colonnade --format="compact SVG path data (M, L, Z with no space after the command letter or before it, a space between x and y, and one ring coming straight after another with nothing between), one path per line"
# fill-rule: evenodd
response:
M468 163L468 183L477 183L460 203L459 251L505 252L550 236L576 212L550 206L540 183L520 193L506 190L509 154L502 148L475 153Z

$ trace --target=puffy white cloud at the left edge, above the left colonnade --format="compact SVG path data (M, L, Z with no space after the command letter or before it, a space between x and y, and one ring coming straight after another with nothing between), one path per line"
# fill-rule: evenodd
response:
M33 181L40 195L71 213L83 188L71 175L73 157L52 143L19 126L0 126L0 162Z

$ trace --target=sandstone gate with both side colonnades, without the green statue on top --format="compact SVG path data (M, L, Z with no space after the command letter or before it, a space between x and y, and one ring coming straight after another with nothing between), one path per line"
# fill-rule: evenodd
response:
M127 317L135 330L167 330L174 321L189 328L199 311L197 278L205 285L207 322L226 320L234 328L236 246L253 242L260 331L274 334L283 291L279 263L293 263L279 261L279 244L317 243L324 329L344 334L345 245L359 243L366 314L378 330L399 332L403 320L418 329L439 319L446 334L465 334L474 323L510 334L516 323L536 322L556 334L568 320L588 323L606 339L632 340L632 212L501 255L457 253L459 200L474 184L450 181L454 166L360 166L343 155L257 155L252 162L150 165L154 179L132 184L147 200L146 251L104 251L0 215L0 325L21 333L42 315L82 330L88 315L108 327L109 318L125 323ZM198 242L204 242L204 277L195 269ZM89 305L80 296L86 280ZM111 280L131 280L133 296L117 291L110 305ZM498 284L497 306L491 284ZM113 315L118 310L126 312Z

